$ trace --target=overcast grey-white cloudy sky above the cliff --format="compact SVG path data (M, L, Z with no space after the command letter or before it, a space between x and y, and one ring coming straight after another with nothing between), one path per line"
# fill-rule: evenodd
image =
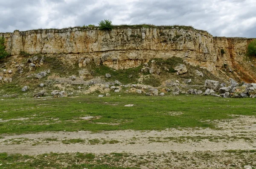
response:
M105 19L256 37L256 0L0 0L0 32L98 26Z

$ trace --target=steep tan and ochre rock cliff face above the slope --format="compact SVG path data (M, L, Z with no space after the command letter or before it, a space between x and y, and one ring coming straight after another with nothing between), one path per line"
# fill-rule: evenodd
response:
M193 66L218 74L224 64L239 65L252 39L212 37L192 28L48 29L0 34L12 55L70 54L79 66L90 60L114 69L139 66L153 58L181 57ZM224 50L224 54L221 49Z

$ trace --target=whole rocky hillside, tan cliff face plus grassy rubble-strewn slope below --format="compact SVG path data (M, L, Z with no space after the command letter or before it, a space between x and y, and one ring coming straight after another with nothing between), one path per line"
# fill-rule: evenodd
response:
M122 92L146 93L152 87L166 92L177 84L186 93L203 90L206 79L256 82L256 60L246 56L252 39L212 37L190 26L76 27L0 36L11 54L0 64L0 95L30 96L41 90L105 94L112 85L123 86L116 87ZM187 71L177 73L183 71L180 65ZM132 84L139 87L131 89ZM24 86L28 89L22 92Z

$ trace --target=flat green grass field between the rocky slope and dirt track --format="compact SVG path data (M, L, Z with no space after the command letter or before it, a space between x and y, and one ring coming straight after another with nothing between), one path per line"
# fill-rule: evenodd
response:
M113 94L114 95L114 94ZM125 107L126 104L134 104ZM211 96L81 96L0 100L0 134L46 131L212 128L212 120L256 115L256 100ZM81 117L90 116L90 119Z

